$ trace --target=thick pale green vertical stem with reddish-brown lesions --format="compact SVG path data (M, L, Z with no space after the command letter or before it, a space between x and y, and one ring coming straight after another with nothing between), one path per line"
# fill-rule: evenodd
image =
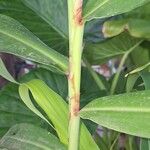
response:
M68 0L69 16L69 150L78 150L80 131L80 78L84 23L82 1Z

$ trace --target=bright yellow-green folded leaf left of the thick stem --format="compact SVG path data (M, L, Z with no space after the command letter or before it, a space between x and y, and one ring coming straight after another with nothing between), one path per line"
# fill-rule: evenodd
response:
M29 97L29 91L31 91L36 103L44 110L48 118L52 121L56 128L59 138L65 144L67 144L67 126L68 119L67 116L67 106L65 101L51 90L46 84L41 80L32 80L30 82L21 84L19 87L19 93L25 104L38 116L45 118L41 113L35 108ZM64 117L61 115L63 112ZM45 120L45 119L44 119ZM60 125L60 122L62 125Z

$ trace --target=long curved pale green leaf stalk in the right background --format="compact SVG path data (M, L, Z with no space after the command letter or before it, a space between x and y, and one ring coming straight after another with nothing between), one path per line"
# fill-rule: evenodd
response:
M139 41L137 44L135 44L132 48L130 48L122 57L121 59L121 62L119 64L119 67L118 67L118 70L117 70L117 73L113 79L113 82L112 82L112 86L111 86L111 89L110 89L110 94L113 95L114 92L115 92L115 89L116 89L116 86L117 86L117 83L118 83L118 79L119 79L119 76L120 76L120 73L121 73L121 70L122 70L122 67L126 61L126 59L128 58L128 55L136 48L138 47L141 43L143 42L143 40Z

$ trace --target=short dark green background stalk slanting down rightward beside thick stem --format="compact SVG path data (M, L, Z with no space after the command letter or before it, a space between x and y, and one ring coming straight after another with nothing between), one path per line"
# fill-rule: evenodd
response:
M97 86L99 87L100 90L106 90L105 85L103 84L102 80L99 78L98 74L92 69L91 65L89 62L86 60L85 57L83 57L83 61L89 70L90 74L92 75L93 79L95 80Z

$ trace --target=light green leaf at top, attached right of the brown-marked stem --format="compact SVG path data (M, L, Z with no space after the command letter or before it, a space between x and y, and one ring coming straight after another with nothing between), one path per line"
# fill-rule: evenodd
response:
M94 18L106 18L122 14L150 2L149 0L86 0L83 18L88 21Z

